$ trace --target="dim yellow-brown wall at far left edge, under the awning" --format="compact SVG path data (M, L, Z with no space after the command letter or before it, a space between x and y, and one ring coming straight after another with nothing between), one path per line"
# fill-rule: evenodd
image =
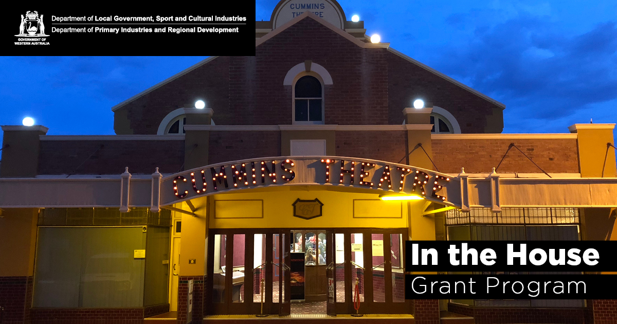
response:
M4 209L0 218L0 276L34 273L38 209Z

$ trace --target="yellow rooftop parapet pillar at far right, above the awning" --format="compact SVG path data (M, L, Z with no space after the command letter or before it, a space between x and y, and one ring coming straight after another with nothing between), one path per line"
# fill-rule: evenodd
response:
M577 133L581 177L602 177L604 157L607 156L607 143L613 143L613 130L580 129ZM613 149L613 147L608 149L604 177L617 177L617 169L615 166L615 149Z

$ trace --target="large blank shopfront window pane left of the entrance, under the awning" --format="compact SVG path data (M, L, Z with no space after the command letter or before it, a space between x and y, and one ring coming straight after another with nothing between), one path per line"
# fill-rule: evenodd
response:
M33 307L141 307L146 259L134 259L133 250L146 249L148 234L141 227L39 228ZM156 248L147 257L166 269Z

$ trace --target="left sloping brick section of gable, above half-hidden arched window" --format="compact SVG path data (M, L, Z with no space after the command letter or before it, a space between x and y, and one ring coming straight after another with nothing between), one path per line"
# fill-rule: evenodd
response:
M198 99L214 110L218 124L217 112L229 105L229 59L217 57L123 106L121 109L127 110L133 133L156 134L167 114L187 104L193 107Z

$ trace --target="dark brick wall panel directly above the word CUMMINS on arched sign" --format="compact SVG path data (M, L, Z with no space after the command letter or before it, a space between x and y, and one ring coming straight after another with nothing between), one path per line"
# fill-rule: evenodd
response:
M280 131L210 131L209 164L281 155Z

